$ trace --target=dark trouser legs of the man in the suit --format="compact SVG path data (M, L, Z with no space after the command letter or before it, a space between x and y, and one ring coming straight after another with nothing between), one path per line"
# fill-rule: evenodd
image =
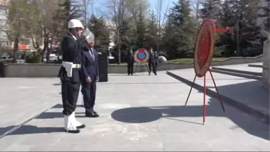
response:
M93 108L96 101L96 82L82 83L82 95L84 96L84 108Z

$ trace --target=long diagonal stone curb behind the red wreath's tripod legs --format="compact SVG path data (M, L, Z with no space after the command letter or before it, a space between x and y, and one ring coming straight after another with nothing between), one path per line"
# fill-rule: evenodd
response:
M191 84L192 84L191 81L186 80L184 77L180 77L179 75L175 75L172 72L167 71L167 75L169 75L171 77L174 77L174 79L179 80L181 82L184 82L185 84L188 84L189 86L191 86ZM203 86L201 86L199 84L196 84L196 83L193 85L193 88L194 89L197 89L199 91L203 91L203 89L204 89ZM208 89L207 88L206 94L208 96L211 96L212 98L217 98L216 91L212 91L211 89ZM220 94L220 96L221 96L221 100L224 103L227 103L227 104L229 104L229 105L231 105L231 106L233 106L235 108L238 108L239 110L242 110L243 112L247 113L248 115L255 116L256 118L258 118L262 122L270 125L270 116L269 115L266 115L266 113L262 113L262 111L259 111L257 109L254 109L254 108L252 108L250 106L245 105L244 103L241 103L239 101L236 101L234 99L231 99L231 98L229 98L227 96L224 96L222 94ZM225 107L225 111L226 111L226 107Z

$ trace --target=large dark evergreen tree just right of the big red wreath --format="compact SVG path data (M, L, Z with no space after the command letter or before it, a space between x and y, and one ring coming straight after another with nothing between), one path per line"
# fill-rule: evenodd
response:
M226 45L226 56L243 56L245 50L262 48L257 25L258 4L257 0L224 2L223 17L219 22L221 27L233 30L231 34L219 34L219 44Z

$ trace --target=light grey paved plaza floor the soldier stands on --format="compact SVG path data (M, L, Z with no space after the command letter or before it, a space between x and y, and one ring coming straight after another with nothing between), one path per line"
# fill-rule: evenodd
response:
M174 72L191 81L195 75L191 69ZM236 79L213 75L218 86ZM99 82L95 108L101 116L84 118L78 106L77 120L86 125L80 134L63 132L58 78L1 78L0 84L0 151L270 150L269 125L227 104L224 113L210 96L202 125L203 93L193 89L184 106L190 87L165 71L112 74Z

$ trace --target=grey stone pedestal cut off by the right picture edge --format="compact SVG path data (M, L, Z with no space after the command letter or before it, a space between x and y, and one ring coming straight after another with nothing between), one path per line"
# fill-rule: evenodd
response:
M270 91L270 39L264 42L262 84Z

